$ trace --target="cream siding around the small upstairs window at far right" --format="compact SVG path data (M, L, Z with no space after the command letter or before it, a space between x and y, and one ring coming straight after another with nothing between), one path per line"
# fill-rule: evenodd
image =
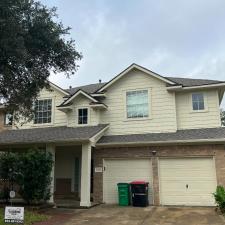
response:
M204 92L206 109L202 112L192 110L192 92L176 94L178 129L210 128L221 126L219 98L217 90Z

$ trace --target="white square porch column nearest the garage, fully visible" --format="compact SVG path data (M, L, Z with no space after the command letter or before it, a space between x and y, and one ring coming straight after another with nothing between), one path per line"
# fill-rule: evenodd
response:
M80 206L90 207L90 192L91 192L91 145L82 145L82 160L81 160L81 193Z

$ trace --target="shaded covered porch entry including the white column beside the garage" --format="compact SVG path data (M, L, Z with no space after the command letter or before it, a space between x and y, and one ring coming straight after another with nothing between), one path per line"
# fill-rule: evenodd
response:
M91 206L91 143L46 145L53 155L50 203L59 206Z

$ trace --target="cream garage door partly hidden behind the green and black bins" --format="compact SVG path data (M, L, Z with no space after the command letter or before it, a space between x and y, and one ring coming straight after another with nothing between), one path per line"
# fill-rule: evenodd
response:
M117 204L117 183L145 180L152 183L152 166L148 159L104 160L103 199L105 203ZM151 203L151 192L149 193Z

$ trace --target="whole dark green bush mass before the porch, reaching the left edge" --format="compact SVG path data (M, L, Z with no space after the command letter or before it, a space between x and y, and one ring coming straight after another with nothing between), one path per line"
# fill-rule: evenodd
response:
M0 176L19 185L19 194L28 203L48 200L53 160L49 152L30 149L23 153L3 153L0 156ZM5 191L2 193L5 196ZM6 198L7 196L5 196Z

